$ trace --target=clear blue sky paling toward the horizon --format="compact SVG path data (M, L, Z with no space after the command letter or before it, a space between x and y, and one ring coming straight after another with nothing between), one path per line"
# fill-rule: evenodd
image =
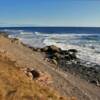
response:
M0 0L0 26L100 27L100 0Z

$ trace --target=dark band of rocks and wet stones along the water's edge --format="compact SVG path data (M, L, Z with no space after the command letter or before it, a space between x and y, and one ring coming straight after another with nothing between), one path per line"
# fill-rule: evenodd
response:
M77 58L77 50L61 50L60 48L51 45L44 48L32 48L33 51L39 51L45 54L45 59L64 71L68 71L73 75L80 76L80 78L88 82L100 86L100 65L89 65Z

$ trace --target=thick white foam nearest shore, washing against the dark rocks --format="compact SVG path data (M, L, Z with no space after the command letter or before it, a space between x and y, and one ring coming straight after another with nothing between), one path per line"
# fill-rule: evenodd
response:
M88 61L88 62L92 62L92 63L96 63L100 65L100 53L97 53L96 50L98 50L97 48L95 49L91 49L89 48L89 46L87 45L86 47L83 46L78 46L78 45L72 45L72 44L65 44L65 43L57 43L55 40L50 40L50 39L45 39L44 43L46 45L55 45L59 48L61 48L62 50L67 50L67 49L77 49L78 50L78 54L77 57L84 60L84 61ZM92 45L92 44L89 44ZM100 46L99 46L99 50L100 51Z

